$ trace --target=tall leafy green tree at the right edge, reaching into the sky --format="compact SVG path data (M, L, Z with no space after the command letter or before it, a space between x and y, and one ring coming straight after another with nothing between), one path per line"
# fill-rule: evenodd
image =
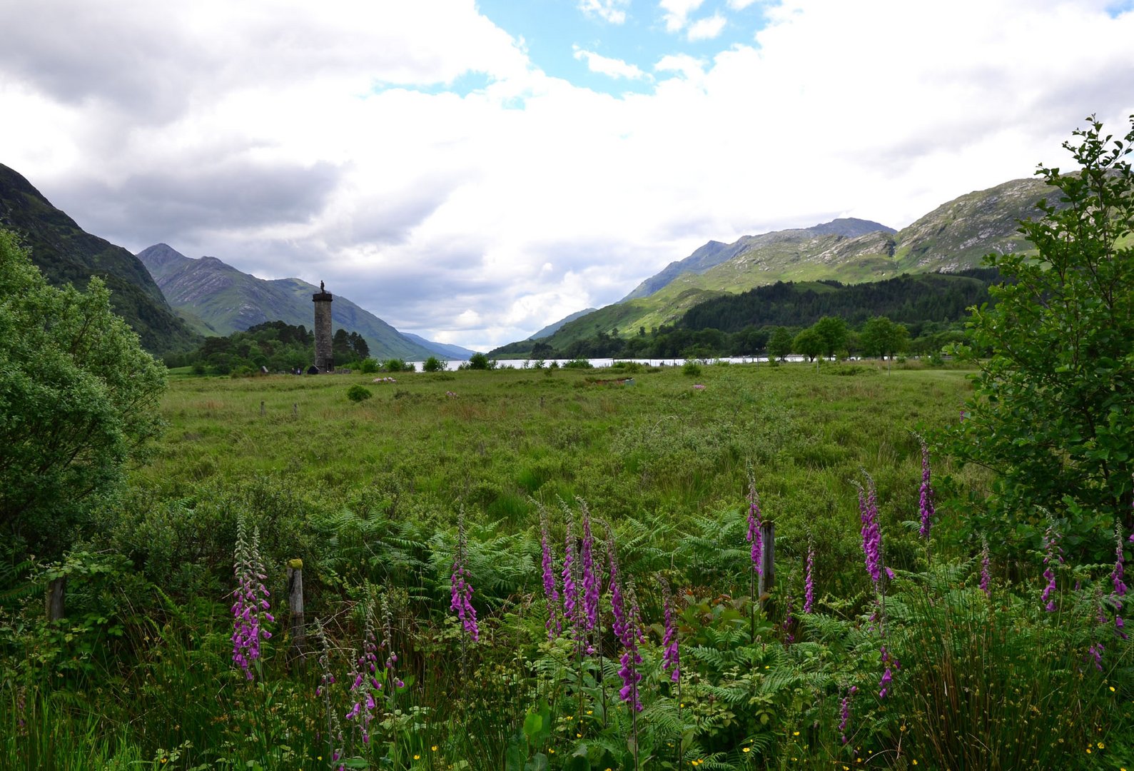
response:
M1051 195L1019 227L1038 256L985 259L1006 280L968 322L975 395L943 440L995 472L974 524L997 543L1036 545L1050 516L1064 549L1100 560L1116 520L1134 526L1134 116L1123 139L1093 116L1073 136L1080 170L1041 164Z

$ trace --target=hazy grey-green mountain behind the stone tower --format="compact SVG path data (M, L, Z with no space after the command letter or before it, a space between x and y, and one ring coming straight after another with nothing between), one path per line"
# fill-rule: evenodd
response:
M259 279L243 273L217 257L191 260L166 244L138 253L169 304L198 329L212 334L230 334L264 321L314 325L312 294L319 287L299 279ZM426 348L340 295L331 303L336 329L358 332L376 358L423 359L440 351Z

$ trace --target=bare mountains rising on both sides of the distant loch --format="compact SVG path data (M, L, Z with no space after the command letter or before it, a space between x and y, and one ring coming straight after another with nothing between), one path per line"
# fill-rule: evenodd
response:
M711 240L642 281L621 300L572 314L494 353L523 355L536 341L565 349L596 332L638 334L675 324L689 308L714 297L777 281L862 283L902 273L975 268L990 252L1031 251L1017 231L1018 221L1039 215L1036 202L1051 195L1042 180L1016 179L959 196L897 231L869 220L837 219L744 236L731 244ZM91 276L100 276L111 289L115 310L155 354L185 350L198 345L201 336L228 334L263 321L304 325L313 321L311 295L316 287L298 279L259 279L215 257L191 260L166 244L135 256L85 232L27 179L2 164L0 227L19 234L53 285L82 287ZM362 334L375 357L472 354L401 333L340 295L332 308L333 323Z

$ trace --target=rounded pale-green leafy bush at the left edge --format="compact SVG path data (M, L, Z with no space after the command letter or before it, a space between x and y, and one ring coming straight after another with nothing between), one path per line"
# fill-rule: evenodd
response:
M164 387L101 279L51 287L0 230L0 539L59 556L145 458Z

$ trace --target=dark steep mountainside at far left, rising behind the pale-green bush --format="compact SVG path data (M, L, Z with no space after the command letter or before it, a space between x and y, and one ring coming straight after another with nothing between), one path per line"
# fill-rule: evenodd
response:
M84 231L18 172L0 164L0 227L19 234L32 262L54 286L85 287L99 276L115 312L154 354L187 350L200 340L166 303L145 266L129 251Z

